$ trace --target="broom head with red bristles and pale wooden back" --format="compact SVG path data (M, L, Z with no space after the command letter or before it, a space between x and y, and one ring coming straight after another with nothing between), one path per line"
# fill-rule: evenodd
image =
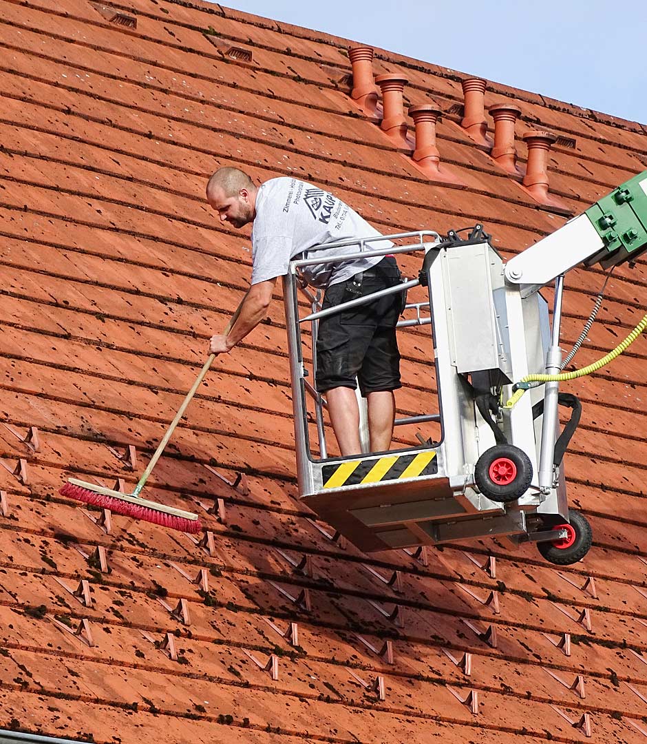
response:
M193 512L167 507L129 493L121 493L94 483L79 481L77 478L70 478L59 493L61 496L74 498L76 501L93 504L100 509L109 509L115 514L142 519L144 522L169 527L171 530L188 533L197 533L202 530L198 515Z

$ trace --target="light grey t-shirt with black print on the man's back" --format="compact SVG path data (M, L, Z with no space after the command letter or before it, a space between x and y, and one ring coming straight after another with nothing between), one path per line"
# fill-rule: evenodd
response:
M259 187L256 198L256 217L251 233L251 283L258 284L287 274L290 260L300 253L304 253L303 257L321 255L327 259L355 253L359 249L359 246L346 246L308 254L312 246L380 234L332 193L287 176L270 179ZM392 246L390 240L379 240L369 243L364 250ZM325 287L366 271L381 260L382 256L373 256L336 264L320 263L304 266L302 274L312 286Z

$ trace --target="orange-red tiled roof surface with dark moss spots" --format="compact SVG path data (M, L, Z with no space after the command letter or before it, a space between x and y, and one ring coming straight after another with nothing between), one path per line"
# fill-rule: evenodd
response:
M492 541L367 556L332 539L295 499L278 299L216 363L152 476L149 498L200 510L202 541L120 516L106 533L58 495L68 475L132 487L247 286L246 234L203 196L218 164L333 188L383 231L482 221L506 256L564 222L456 116L438 147L466 187L430 184L351 101L344 39L199 1L109 5L0 0L0 728L102 743L646 741L645 339L573 387L570 501L594 545L569 568ZM462 103L454 71L382 51L374 69L405 73L411 103ZM550 154L573 214L646 166L640 124L489 85L486 103L501 97L522 109L522 166L525 130L575 138ZM580 362L634 327L646 267L617 270ZM601 282L568 275L564 346ZM402 412L431 399L430 345L424 328L402 334ZM281 635L291 623L296 639Z

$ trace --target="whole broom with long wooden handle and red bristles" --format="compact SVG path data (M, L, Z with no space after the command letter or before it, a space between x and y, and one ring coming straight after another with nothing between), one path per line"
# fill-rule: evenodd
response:
M236 322L241 307L242 302L239 304L236 312L234 312L231 321L229 321L228 326L225 329L225 335L229 333L231 327ZM202 525L200 524L197 514L183 511L181 509L174 509L173 507L167 507L164 506L164 504L158 504L155 501L147 501L147 499L141 498L139 494L144 488L144 484L146 484L152 469L161 457L162 452L164 452L164 448L167 446L167 443L176 429L181 417L184 415L187 405L189 405L191 398L193 398L200 383L209 371L213 359L216 359L216 355L210 354L209 358L205 362L205 366L197 376L196 382L193 383L193 387L187 393L187 397L184 398L179 411L176 413L176 417L173 419L166 434L164 434L163 439L158 444L155 454L150 459L147 469L144 470L144 473L132 493L121 493L120 491L115 491L111 488L97 486L94 483L80 481L77 478L69 478L68 482L59 490L61 496L74 498L76 501L84 501L86 504L94 504L94 506L102 509L109 509L115 514L130 516L134 519L143 519L144 522L152 522L154 525L169 527L172 530L180 530L181 532L188 533L200 532L200 530L202 530Z

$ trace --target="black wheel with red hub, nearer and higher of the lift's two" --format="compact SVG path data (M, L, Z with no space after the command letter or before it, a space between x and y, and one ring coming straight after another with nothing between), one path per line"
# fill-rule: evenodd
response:
M478 458L474 481L480 493L492 501L515 501L528 490L532 464L523 449L512 444L497 444Z

